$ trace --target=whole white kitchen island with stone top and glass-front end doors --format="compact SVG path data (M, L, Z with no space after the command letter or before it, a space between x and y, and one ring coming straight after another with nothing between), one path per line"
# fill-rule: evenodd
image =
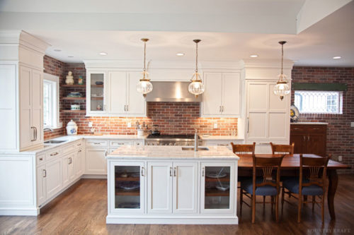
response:
M107 224L238 224L237 161L224 146L122 146L107 157Z

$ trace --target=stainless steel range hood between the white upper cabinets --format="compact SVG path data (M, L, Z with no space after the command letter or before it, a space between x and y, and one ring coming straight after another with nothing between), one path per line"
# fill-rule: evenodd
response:
M202 95L195 98L188 92L189 82L152 82L152 85L147 102L202 102Z

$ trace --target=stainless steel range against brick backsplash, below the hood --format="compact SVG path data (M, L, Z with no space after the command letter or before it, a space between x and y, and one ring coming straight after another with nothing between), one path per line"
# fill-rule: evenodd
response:
M202 140L198 144L202 145ZM194 145L194 135L148 135L145 145Z

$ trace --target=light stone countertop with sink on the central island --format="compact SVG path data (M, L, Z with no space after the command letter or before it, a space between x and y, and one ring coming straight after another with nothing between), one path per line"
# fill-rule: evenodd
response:
M238 160L225 146L200 146L209 150L182 150L186 146L124 145L108 155L107 159L210 159ZM188 146L193 147L193 146Z

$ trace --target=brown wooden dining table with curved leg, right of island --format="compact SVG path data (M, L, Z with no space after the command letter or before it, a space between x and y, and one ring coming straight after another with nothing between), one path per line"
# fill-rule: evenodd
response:
M253 160L252 155L237 155L240 157L238 162L238 175L239 176L252 176ZM256 154L257 157L280 157L281 155L272 154ZM318 155L304 154L304 157L321 157ZM299 176L300 158L299 154L285 155L282 159L282 165L280 170L280 176ZM327 176L329 178L329 187L327 193L327 203L329 207L329 214L331 219L336 219L334 212L334 196L336 195L336 189L338 186L338 174L337 169L350 169L351 167L346 164L341 164L333 160L329 160L327 166Z

